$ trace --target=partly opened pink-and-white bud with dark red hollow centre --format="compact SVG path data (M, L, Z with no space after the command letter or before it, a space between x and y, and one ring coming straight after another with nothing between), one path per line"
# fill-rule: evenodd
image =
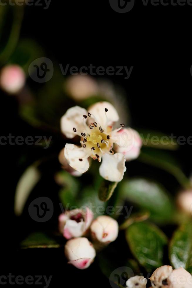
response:
M88 207L86 211L73 209L59 216L59 231L66 239L80 237L85 234L92 220L93 214Z

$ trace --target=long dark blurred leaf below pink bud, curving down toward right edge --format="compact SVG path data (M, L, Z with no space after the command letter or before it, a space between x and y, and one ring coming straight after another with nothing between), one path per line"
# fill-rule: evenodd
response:
M190 183L176 159L166 151L153 148L142 148L139 161L155 166L173 175L183 187L189 187Z

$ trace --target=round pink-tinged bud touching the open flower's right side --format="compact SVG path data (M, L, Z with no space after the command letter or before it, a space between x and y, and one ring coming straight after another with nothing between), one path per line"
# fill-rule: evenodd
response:
M114 149L123 153L127 161L136 159L140 154L142 140L139 133L132 128L121 129L114 135L117 144Z

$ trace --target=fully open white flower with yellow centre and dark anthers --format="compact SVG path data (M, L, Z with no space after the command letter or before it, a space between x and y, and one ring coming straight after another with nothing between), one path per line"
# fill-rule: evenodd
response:
M108 102L96 103L88 112L79 106L68 109L61 118L61 130L68 138L81 137L81 147L65 145L68 164L79 173L85 173L89 169L89 157L102 160L100 175L109 181L121 181L126 171L125 157L122 153L113 155L112 151L113 143L118 141L117 132L122 129L112 130L113 123L118 120L117 111Z

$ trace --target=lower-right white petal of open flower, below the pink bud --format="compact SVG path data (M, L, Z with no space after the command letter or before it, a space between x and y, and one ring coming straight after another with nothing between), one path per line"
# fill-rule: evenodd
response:
M99 173L104 179L120 182L123 179L125 171L125 156L122 153L103 155Z

